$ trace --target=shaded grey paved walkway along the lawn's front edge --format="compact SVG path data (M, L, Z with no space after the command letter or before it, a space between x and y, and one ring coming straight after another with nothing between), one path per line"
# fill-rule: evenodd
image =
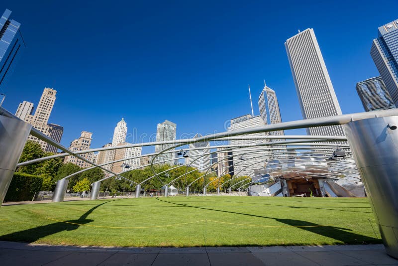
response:
M119 248L0 241L0 265L132 266L343 266L398 265L383 245Z

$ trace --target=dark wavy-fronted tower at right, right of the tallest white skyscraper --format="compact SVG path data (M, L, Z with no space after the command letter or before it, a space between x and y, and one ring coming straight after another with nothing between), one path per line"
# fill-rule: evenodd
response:
M357 93L366 112L395 108L395 104L382 77L357 83Z

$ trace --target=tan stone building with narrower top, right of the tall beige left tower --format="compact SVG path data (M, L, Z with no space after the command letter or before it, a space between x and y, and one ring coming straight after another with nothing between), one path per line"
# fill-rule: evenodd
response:
M90 145L91 145L91 140L92 140L91 136L92 135L93 135L93 133L90 133L87 131L82 131L82 133L80 134L80 137L71 142L69 149L72 151L89 149ZM80 156L86 158L89 161L93 161L93 155L94 155L93 152L80 154ZM71 162L71 163L74 163L83 168L87 168L87 167L91 166L90 163L85 162L75 156L72 156L72 155L65 156L64 162L65 163Z

